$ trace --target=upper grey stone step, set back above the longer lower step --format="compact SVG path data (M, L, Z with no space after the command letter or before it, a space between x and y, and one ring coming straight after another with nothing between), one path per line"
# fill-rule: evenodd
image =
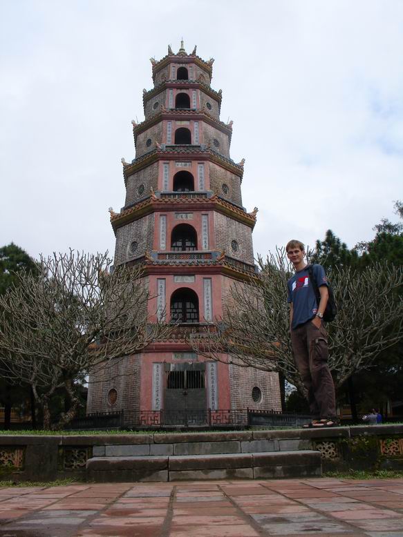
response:
M221 435L223 438L223 435ZM196 439L195 439L196 440ZM158 444L113 444L93 447L94 457L214 455L219 453L261 453L312 449L312 442L302 438L270 440L200 440Z

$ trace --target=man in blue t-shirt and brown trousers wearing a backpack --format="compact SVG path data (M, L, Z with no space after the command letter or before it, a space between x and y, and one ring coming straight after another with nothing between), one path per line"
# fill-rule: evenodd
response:
M306 427L333 427L338 423L335 384L328 367L328 334L323 321L329 297L328 281L323 266L312 265L311 275L320 293L317 304L310 271L304 261L305 246L298 240L290 240L285 250L295 269L288 280L290 333L295 365L308 390L312 422Z

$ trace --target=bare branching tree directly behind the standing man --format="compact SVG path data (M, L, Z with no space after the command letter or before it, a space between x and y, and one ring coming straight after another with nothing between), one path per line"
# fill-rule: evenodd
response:
M247 284L234 284L234 307L201 335L192 335L194 351L241 367L279 371L304 395L290 343L287 281L292 268L283 249L263 262ZM329 367L336 387L355 371L371 367L377 355L403 338L401 267L373 264L329 274L339 313L328 324Z

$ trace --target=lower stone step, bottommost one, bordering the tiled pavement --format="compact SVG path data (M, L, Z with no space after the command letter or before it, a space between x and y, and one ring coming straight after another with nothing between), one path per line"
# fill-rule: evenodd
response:
M307 449L93 457L86 467L88 478L97 482L306 478L321 476L321 455Z

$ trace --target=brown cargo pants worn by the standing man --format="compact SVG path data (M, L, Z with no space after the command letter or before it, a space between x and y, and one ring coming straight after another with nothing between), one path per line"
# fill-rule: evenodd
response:
M308 321L291 330L294 362L308 390L312 418L335 418L335 384L328 367L328 333Z

